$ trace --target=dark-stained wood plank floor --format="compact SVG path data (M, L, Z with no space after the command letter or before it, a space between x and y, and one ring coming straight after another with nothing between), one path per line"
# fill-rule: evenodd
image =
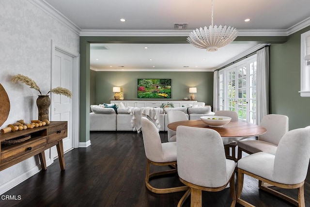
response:
M167 133L161 132L162 141ZM141 134L135 132L92 132L92 145L64 155L66 170L58 160L3 195L1 207L176 207L184 192L155 194L145 187L145 154ZM151 168L154 170L154 168ZM310 207L310 173L305 185ZM156 187L181 185L177 176L152 180ZM285 191L297 197L297 191ZM203 206L229 207L230 191L203 192ZM292 207L275 196L258 190L258 181L245 177L242 197L257 207ZM2 196L1 196L2 198ZM185 207L190 206L189 199ZM239 206L238 204L236 206Z

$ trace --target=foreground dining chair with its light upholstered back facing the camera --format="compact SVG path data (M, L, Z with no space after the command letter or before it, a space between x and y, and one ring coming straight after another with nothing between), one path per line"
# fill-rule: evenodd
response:
M191 195L191 206L202 206L202 191L221 191L230 183L234 207L235 162L226 159L219 133L209 128L177 127L177 168L180 180L190 189L178 203L181 207Z

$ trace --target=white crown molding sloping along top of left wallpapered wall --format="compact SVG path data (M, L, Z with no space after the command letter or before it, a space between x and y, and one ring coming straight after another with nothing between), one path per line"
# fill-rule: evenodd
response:
M81 29L73 23L70 19L63 16L58 10L56 10L52 5L47 3L45 0L28 0L33 5L37 6L41 11L45 12L48 16L51 16L63 26L68 28L69 30L75 32L76 34L80 34Z

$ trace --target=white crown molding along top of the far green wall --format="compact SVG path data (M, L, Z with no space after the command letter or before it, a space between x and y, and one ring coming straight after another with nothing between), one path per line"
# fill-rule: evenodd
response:
M96 72L106 72L106 71L120 71L120 72L213 72L214 70L211 69L198 69L198 68L175 68L175 69L124 69L124 68L107 68L107 69L101 69L96 67L90 67L91 70Z

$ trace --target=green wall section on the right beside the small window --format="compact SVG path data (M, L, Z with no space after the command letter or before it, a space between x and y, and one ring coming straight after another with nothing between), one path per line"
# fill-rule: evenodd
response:
M288 37L282 44L270 46L270 113L289 117L289 128L310 125L310 97L300 91L300 34L307 27Z

